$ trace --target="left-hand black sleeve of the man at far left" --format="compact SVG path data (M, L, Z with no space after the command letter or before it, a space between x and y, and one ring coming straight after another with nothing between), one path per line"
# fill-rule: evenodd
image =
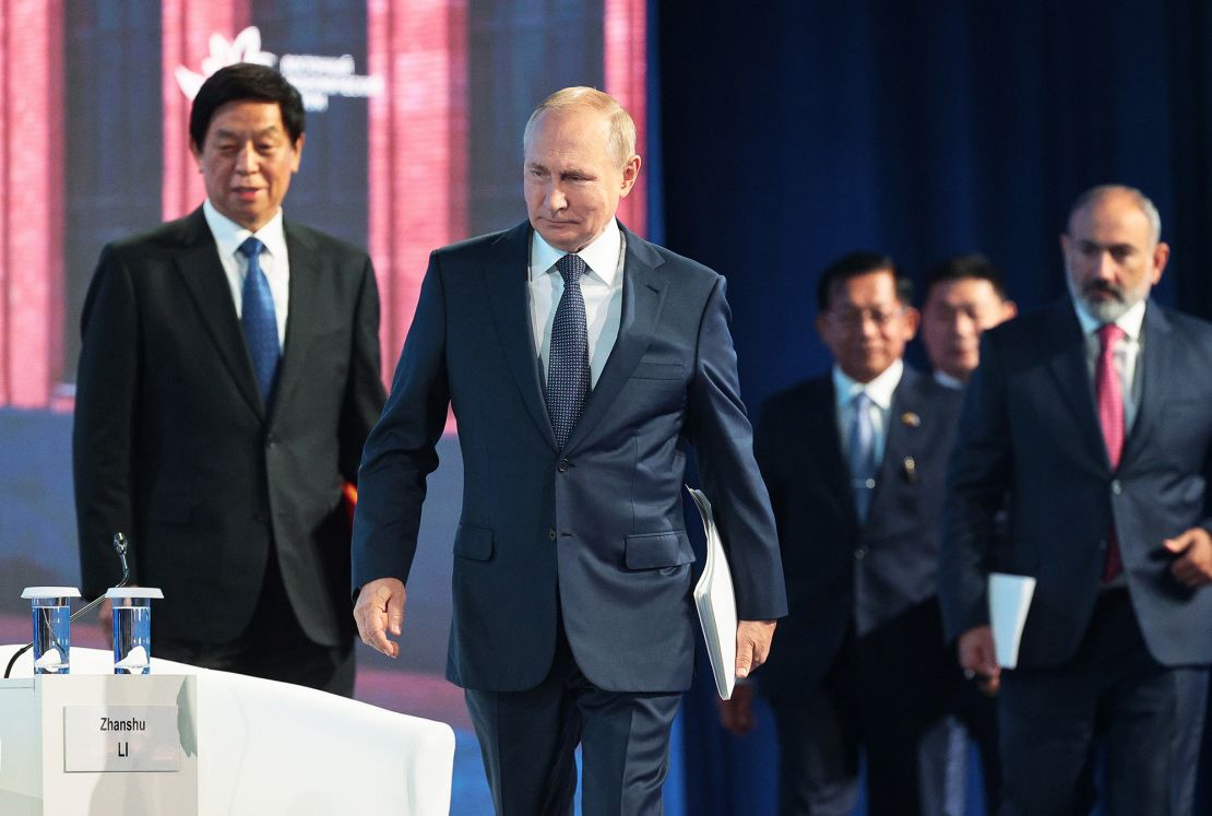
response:
M93 273L81 318L72 466L80 574L86 598L121 578L115 532L131 541L131 581L138 582L132 490L138 427L139 310L130 270L107 247Z

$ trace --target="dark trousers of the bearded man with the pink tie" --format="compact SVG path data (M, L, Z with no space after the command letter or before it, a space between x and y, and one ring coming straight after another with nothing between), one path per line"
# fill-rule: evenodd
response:
M1086 812L1099 740L1104 812L1189 812L1206 689L1207 668L1153 658L1126 589L1104 592L1069 661L1002 673L1002 815Z

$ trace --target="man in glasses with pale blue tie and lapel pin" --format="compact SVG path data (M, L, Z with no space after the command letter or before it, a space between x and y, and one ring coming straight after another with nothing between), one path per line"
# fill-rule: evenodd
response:
M903 363L917 329L911 295L886 256L830 264L817 330L833 371L772 398L758 426L790 605L759 677L784 814L850 814L861 747L869 812L945 806L939 775L956 726L944 715L959 672L934 575L960 398Z

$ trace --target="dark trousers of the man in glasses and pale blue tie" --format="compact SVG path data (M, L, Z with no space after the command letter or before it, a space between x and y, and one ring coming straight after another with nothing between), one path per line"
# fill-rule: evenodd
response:
M861 748L868 812L922 812L922 781L942 778L926 769L950 758L947 746L924 737L947 714L956 674L934 600L862 638L848 635L813 692L771 700L779 737L781 812L848 815ZM944 797L944 791L932 791L927 800Z

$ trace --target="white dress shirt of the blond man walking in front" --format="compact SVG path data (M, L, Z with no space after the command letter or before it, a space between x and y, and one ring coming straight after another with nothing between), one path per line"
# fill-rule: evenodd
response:
M606 359L618 339L618 325L623 310L623 259L625 257L623 233L611 218L601 235L577 255L589 269L581 276L581 293L585 299L585 329L589 339L589 382L598 384L606 366ZM548 359L551 354L551 324L555 308L564 295L564 275L555 262L567 252L553 247L537 232L531 239L528 291L531 329L534 331L534 350L543 364L547 377Z

